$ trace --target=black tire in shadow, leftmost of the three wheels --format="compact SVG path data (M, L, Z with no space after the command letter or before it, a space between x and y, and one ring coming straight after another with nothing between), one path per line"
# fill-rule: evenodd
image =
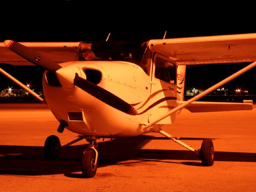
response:
M49 136L44 142L44 158L46 160L56 160L60 156L60 139L55 136Z

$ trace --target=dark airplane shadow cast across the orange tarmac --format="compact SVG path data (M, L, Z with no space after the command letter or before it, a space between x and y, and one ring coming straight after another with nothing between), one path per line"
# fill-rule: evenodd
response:
M201 166L200 160L187 150L141 149L150 142L147 136L118 138L112 141L100 142L98 145L98 166L113 164L140 163L158 161L163 163L179 163L169 160L184 160L180 162L190 166ZM167 142L167 141L166 141ZM62 149L58 160L44 160L43 147L38 146L0 146L0 174L12 175L48 175L65 174L72 177L72 172L80 172L81 160L86 145L68 146ZM138 160L136 162L124 162ZM193 162L198 160L198 162ZM215 161L256 162L256 153L215 152ZM75 176L75 175L74 175ZM79 177L79 176L78 176Z

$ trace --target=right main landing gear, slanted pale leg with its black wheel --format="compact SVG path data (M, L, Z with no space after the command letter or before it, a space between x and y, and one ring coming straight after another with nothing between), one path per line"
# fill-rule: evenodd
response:
M212 140L210 139L203 140L201 148L196 150L188 146L184 142L178 140L178 138L173 137L170 134L166 133L163 130L160 130L159 133L166 136L170 140L173 140L174 142L184 146L188 150L195 152L198 155L198 157L202 160L203 166L212 166L214 164L214 147L213 147Z

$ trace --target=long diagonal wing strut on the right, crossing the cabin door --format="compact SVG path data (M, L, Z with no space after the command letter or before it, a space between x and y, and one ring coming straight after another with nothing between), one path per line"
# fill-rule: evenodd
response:
M206 89L205 91L203 91L202 93L194 96L193 98L191 98L190 100L180 104L179 106L177 106L176 108L170 110L169 112L167 112L166 114L160 116L159 118L157 118L154 122L151 122L149 124L145 124L142 125L142 129L146 130L147 128L150 128L151 126L153 126L154 124L157 124L160 120L170 116L171 114L177 112L178 110L181 110L182 108L188 106L189 104L191 104L192 102L200 99L202 96L205 96L206 94L212 92L213 90L215 90L216 88L224 85L225 83L231 81L232 79L236 78L237 76L243 74L244 72L250 70L251 68L253 68L254 66L256 66L256 62L251 63L250 65L246 66L245 68L242 68L241 70L239 70L238 72L230 75L229 77L227 77L226 79L218 82L217 84L215 84L214 86Z

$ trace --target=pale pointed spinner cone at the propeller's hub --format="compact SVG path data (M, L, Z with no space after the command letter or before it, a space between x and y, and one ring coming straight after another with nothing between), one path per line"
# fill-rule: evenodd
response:
M80 68L75 66L74 64L70 64L68 66L64 66L56 71L56 75L60 80L60 84L68 89L74 88L74 78L75 75L81 76ZM84 74L85 76L85 74Z

